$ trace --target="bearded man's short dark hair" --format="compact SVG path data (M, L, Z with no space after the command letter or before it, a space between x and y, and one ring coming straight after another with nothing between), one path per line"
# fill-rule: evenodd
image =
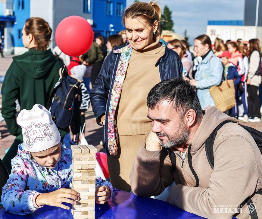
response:
M152 110L165 100L172 103L181 118L189 109L195 110L197 121L203 115L194 88L182 78L173 77L156 84L148 93L147 106Z

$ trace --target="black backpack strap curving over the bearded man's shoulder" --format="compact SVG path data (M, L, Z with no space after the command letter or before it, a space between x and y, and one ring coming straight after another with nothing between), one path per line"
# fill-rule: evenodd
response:
M214 146L214 141L215 138L217 136L217 131L226 123L229 123L231 121L226 120L223 121L222 123L220 123L214 130L213 132L210 134L210 136L207 138L207 140L205 141L205 150L206 150L206 155L207 155L207 160L208 163L210 164L211 168L214 170L214 150L213 150L213 146Z

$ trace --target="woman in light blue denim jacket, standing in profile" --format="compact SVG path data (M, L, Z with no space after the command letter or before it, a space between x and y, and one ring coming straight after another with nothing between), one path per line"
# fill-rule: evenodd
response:
M202 57L202 61L197 67L195 79L190 80L190 84L197 88L197 95L202 109L206 106L214 106L214 100L209 92L209 88L219 85L223 74L223 65L220 58L215 56L211 48L211 40L207 35L200 35L194 40L194 51L197 56Z

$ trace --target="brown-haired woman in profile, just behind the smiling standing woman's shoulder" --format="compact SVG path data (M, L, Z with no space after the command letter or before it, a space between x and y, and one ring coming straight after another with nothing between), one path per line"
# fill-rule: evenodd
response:
M187 77L192 79L192 64L186 54L186 48L179 39L173 39L168 42L167 47L173 49L180 57L183 67L187 72Z

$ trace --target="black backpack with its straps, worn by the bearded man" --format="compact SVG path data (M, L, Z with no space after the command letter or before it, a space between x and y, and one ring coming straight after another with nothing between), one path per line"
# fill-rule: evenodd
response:
M226 123L229 123L229 122L232 122L232 121L229 121L229 120L226 120L226 121L223 121L222 123L220 123L214 130L213 132L210 134L210 136L207 138L207 140L205 141L205 150L206 150L206 155L207 155L207 160L211 166L211 168L214 170L214 150L213 150L213 146L214 146L214 141L215 141L215 138L217 136L217 131L223 126L225 125ZM248 133L252 136L252 138L254 139L254 141L256 142L259 150L260 150L260 153L262 155L262 132L254 129L254 128L251 128L251 127L248 127L248 126L243 126L243 125L240 125L242 128L244 128L246 131L248 131ZM192 174L194 175L195 177L195 180L196 180L196 185L195 187L198 187L199 186L199 179L198 179L198 176L192 166L192 155L190 153L190 149L191 149L191 144L189 145L189 148L188 148L188 164L189 164L189 168L192 172ZM176 155L175 153L171 150L171 149L167 149L168 150L168 154L169 154L169 157L170 157L170 160L171 160L171 163L172 163L172 172L175 172L176 171ZM256 194L260 194L262 195L262 189L258 190L256 192ZM247 203L248 205L248 208L249 208L249 212L250 212L250 216L251 216L251 219L258 219L257 217L257 211L256 209L254 208L254 203L252 202L251 198L248 197L243 203L242 203L242 206Z

